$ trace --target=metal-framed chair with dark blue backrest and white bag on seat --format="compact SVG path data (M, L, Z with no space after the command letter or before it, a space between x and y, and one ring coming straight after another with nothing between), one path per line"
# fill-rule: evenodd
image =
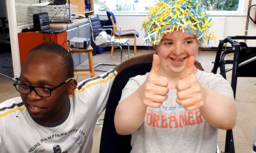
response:
M104 26L101 27L101 23L100 23L100 19L98 14L96 15L90 15L89 16L89 21L91 24L91 35L92 35L92 40L95 43L95 38L99 35L100 32L102 31L106 31L106 30L111 30L111 27L113 27L112 25L109 26ZM104 29L103 29L104 28ZM112 37L113 31L111 32L111 37ZM109 40L108 42L104 42L98 46L100 47L108 47L108 46L113 46L113 47L119 47L121 49L121 63L122 63L122 46L127 44L128 45L128 58L130 58L130 46L129 46L129 39L116 39L115 41L111 41ZM111 64L111 63L98 63L94 66L95 71L108 71L105 69L96 69L96 67L100 66L100 65L112 65L112 66L116 66L117 64Z

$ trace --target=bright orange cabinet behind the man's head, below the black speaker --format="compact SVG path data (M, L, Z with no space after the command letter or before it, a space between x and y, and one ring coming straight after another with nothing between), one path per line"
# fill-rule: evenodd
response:
M58 34L42 34L36 32L18 33L20 65L23 64L25 57L32 48L47 41L58 43L68 50L67 31Z

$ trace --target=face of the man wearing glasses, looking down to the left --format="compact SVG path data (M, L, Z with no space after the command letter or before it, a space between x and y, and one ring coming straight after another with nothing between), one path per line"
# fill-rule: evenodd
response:
M27 56L22 65L20 84L53 88L68 79L65 69L65 63L59 55L36 50ZM67 112L73 82L69 81L52 91L50 97L40 97L34 90L30 94L20 93L20 96L33 119L56 122Z

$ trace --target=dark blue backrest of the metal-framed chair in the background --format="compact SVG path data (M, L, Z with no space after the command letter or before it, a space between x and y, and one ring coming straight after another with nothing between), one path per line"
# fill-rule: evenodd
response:
M102 29L98 14L90 15L89 16L89 21L90 21L91 29L92 29L92 32L91 32L92 33L92 38L93 38L93 41L94 41L95 38L101 32L101 30L97 30L97 29Z

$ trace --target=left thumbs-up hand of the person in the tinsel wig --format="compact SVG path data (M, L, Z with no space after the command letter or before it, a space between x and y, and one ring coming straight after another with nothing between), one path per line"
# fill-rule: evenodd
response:
M167 93L169 91L167 85L168 80L165 77L159 75L160 59L158 55L154 55L152 69L147 76L147 79L141 86L140 99L143 104L158 108L162 105L163 101L167 99Z

